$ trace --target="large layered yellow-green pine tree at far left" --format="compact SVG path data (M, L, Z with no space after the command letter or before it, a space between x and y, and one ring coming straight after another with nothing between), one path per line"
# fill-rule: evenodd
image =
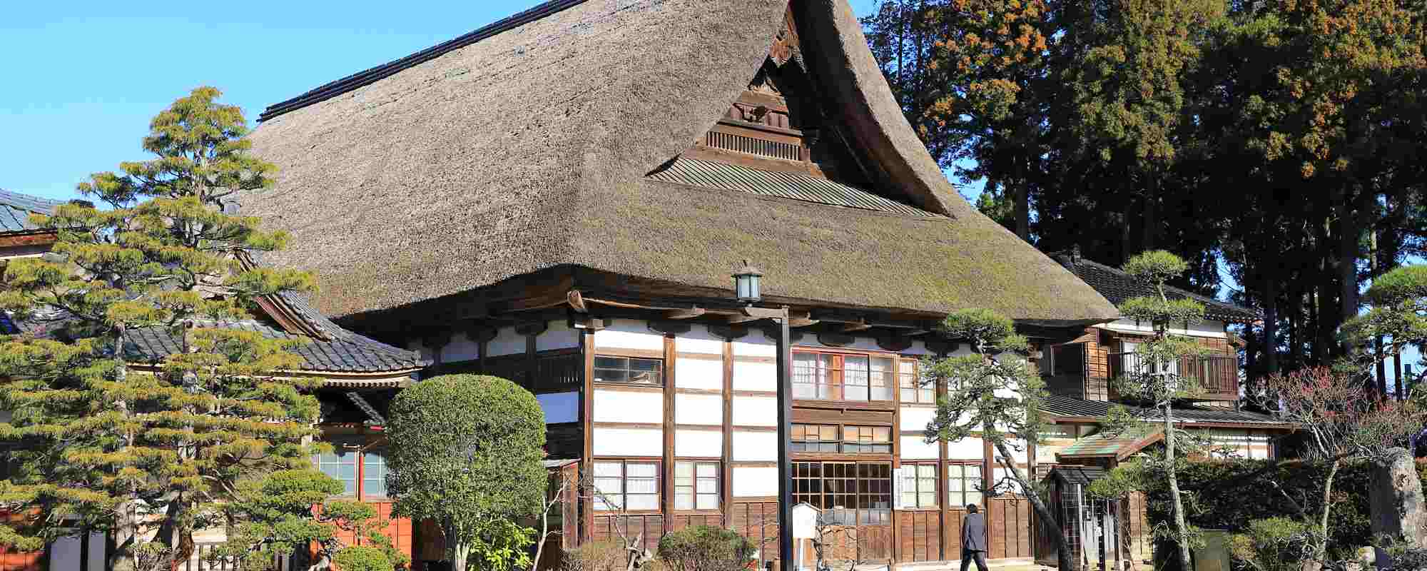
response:
M241 111L200 87L154 117L144 150L37 217L59 231L53 256L11 261L0 307L33 331L0 343L0 441L17 470L0 482L0 542L39 550L74 528L114 540L106 568L187 558L193 531L223 525L240 485L311 467L318 380L294 370L288 343L208 327L247 318L254 297L310 290L301 271L258 268L237 253L281 248L287 237L223 213L227 197L271 183L247 154ZM181 340L156 365L126 360L140 330ZM157 528L157 535L146 531Z

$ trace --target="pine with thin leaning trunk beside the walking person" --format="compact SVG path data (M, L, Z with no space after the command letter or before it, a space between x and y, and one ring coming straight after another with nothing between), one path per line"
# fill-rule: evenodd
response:
M1056 541L1056 560L1062 570L1077 571L1070 544L1060 532L1057 518L1046 505L1037 482L1016 465L1015 453L1037 444L1046 423L1040 403L1046 384L1030 363L1020 357L1029 345L1016 334L1015 324L990 310L960 310L939 327L952 338L970 343L972 354L945 357L925 364L926 383L946 384L946 398L936 403L936 415L926 427L929 443L955 443L980 437L996 448L996 461L1007 474L995 491L1026 494L1042 525Z

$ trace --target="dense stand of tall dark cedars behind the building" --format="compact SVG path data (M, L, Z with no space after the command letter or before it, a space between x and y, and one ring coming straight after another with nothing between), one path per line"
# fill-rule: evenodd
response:
M1025 61L1033 73L1012 74L1029 70L1015 57L948 57L972 36L1012 50L985 23L1030 6L1046 39ZM973 7L985 11L939 17ZM1013 230L1025 220L1002 191L1013 164L1032 173L1042 248L1103 263L1162 248L1190 261L1174 286L1240 284L1233 298L1264 313L1243 334L1250 381L1346 354L1336 333L1364 280L1427 253L1421 1L883 0L863 23L932 154L990 177L986 214ZM1032 123L1006 124L1033 124L1033 146L982 128L990 107L973 103L987 86L1015 86L1012 116ZM946 103L963 114L936 120ZM1388 368L1401 365L1380 377Z

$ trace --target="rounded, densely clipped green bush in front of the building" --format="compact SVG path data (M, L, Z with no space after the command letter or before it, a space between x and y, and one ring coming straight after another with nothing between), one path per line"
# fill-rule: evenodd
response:
M548 478L545 414L529 391L488 375L441 375L391 403L392 515L431 520L454 571L522 568Z

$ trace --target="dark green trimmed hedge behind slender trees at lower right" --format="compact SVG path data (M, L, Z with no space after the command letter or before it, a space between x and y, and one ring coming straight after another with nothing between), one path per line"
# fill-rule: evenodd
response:
M1417 474L1427 487L1427 471L1417 464ZM1186 492L1184 511L1189 522L1204 530L1244 532L1249 522L1271 517L1300 518L1284 500L1287 492L1317 520L1323 510L1323 480L1327 470L1320 464L1284 461L1273 465L1269 460L1227 460L1190 463L1179 473L1179 487ZM1368 482L1371 474L1366 463L1344 464L1333 478L1333 512L1329 514L1329 547L1351 552L1371 542L1368 524ZM1169 485L1157 481L1146 494L1150 525L1173 525L1170 518ZM1277 485L1276 485L1277 484ZM1279 488L1283 488L1283 492Z

